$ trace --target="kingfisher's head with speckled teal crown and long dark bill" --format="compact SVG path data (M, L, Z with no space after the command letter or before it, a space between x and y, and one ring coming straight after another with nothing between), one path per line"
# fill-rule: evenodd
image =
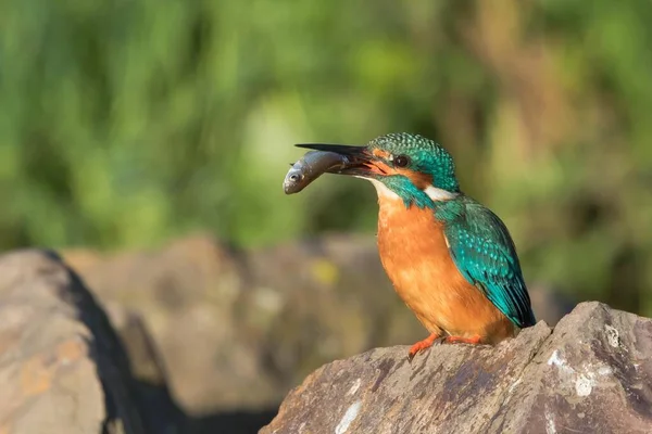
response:
M460 194L453 158L438 143L406 132L380 136L366 146L342 144L298 144L336 152L349 159L333 173L368 179L378 196L399 196L405 206L434 206Z

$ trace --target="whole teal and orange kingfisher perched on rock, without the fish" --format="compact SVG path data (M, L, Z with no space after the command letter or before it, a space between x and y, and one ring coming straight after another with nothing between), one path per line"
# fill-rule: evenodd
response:
M346 156L329 173L378 194L380 261L435 342L494 345L536 323L516 247L503 221L460 189L451 154L423 136L389 133L365 146L303 143Z

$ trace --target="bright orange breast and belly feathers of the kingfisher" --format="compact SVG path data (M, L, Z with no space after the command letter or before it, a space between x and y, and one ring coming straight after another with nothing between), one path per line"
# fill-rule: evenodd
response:
M498 343L512 322L457 270L443 226L432 209L405 208L398 197L378 200L378 251L399 296L430 333L480 336Z

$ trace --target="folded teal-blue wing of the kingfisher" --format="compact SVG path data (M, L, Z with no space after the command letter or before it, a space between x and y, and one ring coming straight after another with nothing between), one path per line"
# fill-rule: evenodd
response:
M455 266L514 324L534 326L535 314L507 228L475 201L464 201L462 206L444 225Z

